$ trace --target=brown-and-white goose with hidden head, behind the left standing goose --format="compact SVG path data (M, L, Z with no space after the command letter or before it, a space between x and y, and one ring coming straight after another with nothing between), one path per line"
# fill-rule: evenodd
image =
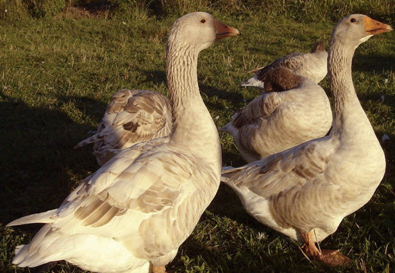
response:
M93 154L102 166L124 148L168 135L171 118L170 101L165 95L121 89L112 95L96 133L74 148L93 142Z

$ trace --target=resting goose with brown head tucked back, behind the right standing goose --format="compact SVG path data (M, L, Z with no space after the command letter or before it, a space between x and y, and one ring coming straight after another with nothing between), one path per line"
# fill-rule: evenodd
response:
M220 127L233 137L247 162L324 136L332 123L325 91L310 79L283 67L267 72L266 92Z

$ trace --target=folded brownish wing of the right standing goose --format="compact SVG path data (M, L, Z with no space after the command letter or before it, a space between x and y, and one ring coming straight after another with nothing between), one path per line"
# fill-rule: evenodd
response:
M335 150L334 146L326 147L328 141L327 138L308 141L244 166L224 169L221 179L225 183L231 180L234 187L247 187L263 198L283 194L293 186L301 187L311 178L324 175Z

